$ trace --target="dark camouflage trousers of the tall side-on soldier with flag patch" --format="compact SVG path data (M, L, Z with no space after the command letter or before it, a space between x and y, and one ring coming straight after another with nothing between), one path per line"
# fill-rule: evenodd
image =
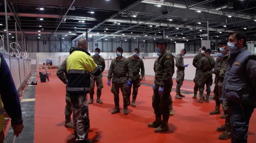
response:
M152 97L152 106L154 108L155 116L162 116L162 119L165 121L169 120L170 116L170 88L164 88L163 95L158 94L159 85L155 85L153 97Z

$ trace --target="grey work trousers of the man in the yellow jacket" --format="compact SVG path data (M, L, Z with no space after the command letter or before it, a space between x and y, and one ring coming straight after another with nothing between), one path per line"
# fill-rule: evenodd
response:
M73 106L73 124L76 142L87 141L90 119L87 95L70 95Z

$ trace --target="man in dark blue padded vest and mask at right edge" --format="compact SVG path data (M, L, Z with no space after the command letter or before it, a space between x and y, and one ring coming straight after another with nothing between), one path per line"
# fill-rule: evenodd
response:
M230 54L222 97L228 102L231 143L247 143L249 121L256 107L256 58L246 50L244 32L231 33L227 48Z

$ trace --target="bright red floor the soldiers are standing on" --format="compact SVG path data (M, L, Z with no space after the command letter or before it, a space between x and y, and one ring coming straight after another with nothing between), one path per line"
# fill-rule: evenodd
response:
M72 129L64 127L65 85L57 78L56 70L49 82L38 82L35 102L35 143L73 143ZM39 77L37 76L37 80ZM147 80L147 79L146 79ZM151 104L152 87L142 85L139 88L137 107L128 107L129 115L111 114L114 107L113 94L103 77L103 104L89 105L91 128L89 139L98 143L230 143L230 140L219 140L222 132L217 132L217 126L224 124L220 115L209 115L214 109L214 101L197 103L192 95L185 95L182 100L175 99L171 92L174 106L174 116L170 116L167 133L154 133L154 128L148 128L148 122L154 119ZM147 81L146 81L147 82ZM150 81L149 81L150 82ZM190 84L190 85L186 85ZM192 82L185 82L184 87L192 87ZM95 96L96 97L96 96ZM120 101L122 97L120 95ZM249 143L256 141L256 114L251 117L249 128Z

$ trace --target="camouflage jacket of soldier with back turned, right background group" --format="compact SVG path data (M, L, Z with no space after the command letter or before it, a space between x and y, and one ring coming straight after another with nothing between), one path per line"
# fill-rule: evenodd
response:
M212 69L214 68L216 61L212 56L204 56L201 58L198 69L201 70L203 73L211 73Z

